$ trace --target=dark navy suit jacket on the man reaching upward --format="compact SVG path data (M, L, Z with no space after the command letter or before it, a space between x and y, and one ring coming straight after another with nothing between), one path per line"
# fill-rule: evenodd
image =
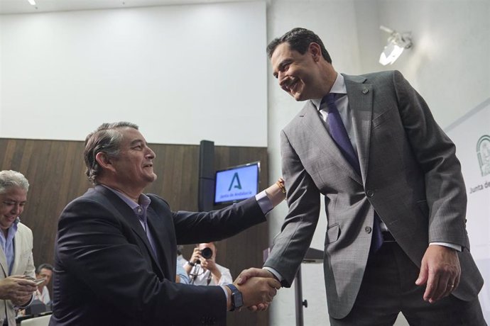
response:
M261 223L255 198L209 213L172 212L148 195L148 237L129 206L95 186L60 215L50 325L225 325L219 286L175 283L176 245L221 240Z

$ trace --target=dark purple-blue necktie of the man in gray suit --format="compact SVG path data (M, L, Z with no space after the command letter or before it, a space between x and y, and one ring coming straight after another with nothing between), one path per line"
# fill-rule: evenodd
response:
M354 147L352 147L351 140L347 134L342 118L340 118L339 110L335 104L335 94L329 93L323 99L322 103L327 103L328 106L328 117L327 123L330 129L330 135L332 139L339 147L340 152L344 155L347 162L356 170L357 174L361 175L361 169L359 167L359 159L357 158L356 152L354 152ZM378 214L374 213L374 223L373 223L373 236L371 238L371 248L369 249L369 254L374 254L383 245L383 235L381 233L380 218Z

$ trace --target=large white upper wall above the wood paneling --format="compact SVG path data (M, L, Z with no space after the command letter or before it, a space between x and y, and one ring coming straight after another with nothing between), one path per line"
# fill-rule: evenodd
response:
M0 137L129 120L149 142L267 145L264 1L4 15L0 30Z

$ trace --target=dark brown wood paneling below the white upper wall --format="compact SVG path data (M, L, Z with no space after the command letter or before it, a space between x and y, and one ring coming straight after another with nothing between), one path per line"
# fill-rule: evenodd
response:
M156 182L146 192L165 198L173 210L197 210L199 146L151 144L156 153ZM34 235L34 262L53 263L58 217L72 199L91 186L85 176L83 142L0 138L0 169L26 176L31 187L21 219ZM215 169L261 161L260 190L268 184L268 159L264 147L215 147ZM217 243L217 262L236 278L241 270L262 266L262 250L268 247L267 223ZM189 258L193 246L185 246ZM228 325L268 325L268 313L229 313Z

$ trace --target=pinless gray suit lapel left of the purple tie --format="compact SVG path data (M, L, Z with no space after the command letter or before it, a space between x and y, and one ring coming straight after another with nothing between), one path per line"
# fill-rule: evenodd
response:
M356 173L351 164L345 159L340 152L339 147L335 144L334 140L327 132L324 122L319 116L317 108L311 101L305 104L305 107L300 112L300 118L303 118L303 131L305 134L315 135L312 137L312 142L322 152L325 157L329 157L334 164L340 167L343 173L348 174L354 181L362 184L361 177Z

